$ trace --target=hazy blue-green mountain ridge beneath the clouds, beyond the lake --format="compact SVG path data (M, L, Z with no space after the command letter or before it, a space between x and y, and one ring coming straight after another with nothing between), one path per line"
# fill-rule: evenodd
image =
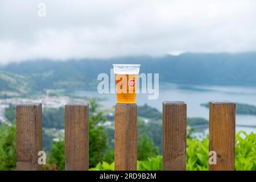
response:
M68 61L36 60L0 67L0 92L27 94L44 89L93 89L112 64L141 64L141 73L159 73L160 82L256 86L256 52L184 53Z

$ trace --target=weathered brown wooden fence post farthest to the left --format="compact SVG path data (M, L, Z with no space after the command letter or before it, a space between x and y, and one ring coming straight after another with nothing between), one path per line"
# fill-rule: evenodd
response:
M42 151L42 104L16 105L16 169L41 170L38 152Z

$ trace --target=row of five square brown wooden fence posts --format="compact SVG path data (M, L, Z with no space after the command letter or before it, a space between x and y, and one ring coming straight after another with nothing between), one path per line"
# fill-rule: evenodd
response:
M88 170L89 105L65 105L65 169ZM216 151L217 164L209 170L234 170L236 104L210 102L209 151ZM163 169L185 170L187 105L163 102ZM16 106L16 152L18 170L40 170L42 150L42 104ZM115 105L115 170L137 169L137 105Z

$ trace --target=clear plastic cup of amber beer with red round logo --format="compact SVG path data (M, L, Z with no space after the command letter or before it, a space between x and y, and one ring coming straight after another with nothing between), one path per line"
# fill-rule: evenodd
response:
M113 64L117 103L135 103L140 66L140 64Z

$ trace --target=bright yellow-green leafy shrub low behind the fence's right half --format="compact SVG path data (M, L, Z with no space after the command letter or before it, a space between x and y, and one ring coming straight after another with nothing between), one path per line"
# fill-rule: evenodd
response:
M241 136L243 134L243 136ZM187 139L187 171L208 170L209 139ZM240 131L236 135L236 170L256 171L256 134L247 135ZM138 170L154 171L162 170L162 156L148 158L137 162ZM114 170L114 163L98 163L90 170Z

